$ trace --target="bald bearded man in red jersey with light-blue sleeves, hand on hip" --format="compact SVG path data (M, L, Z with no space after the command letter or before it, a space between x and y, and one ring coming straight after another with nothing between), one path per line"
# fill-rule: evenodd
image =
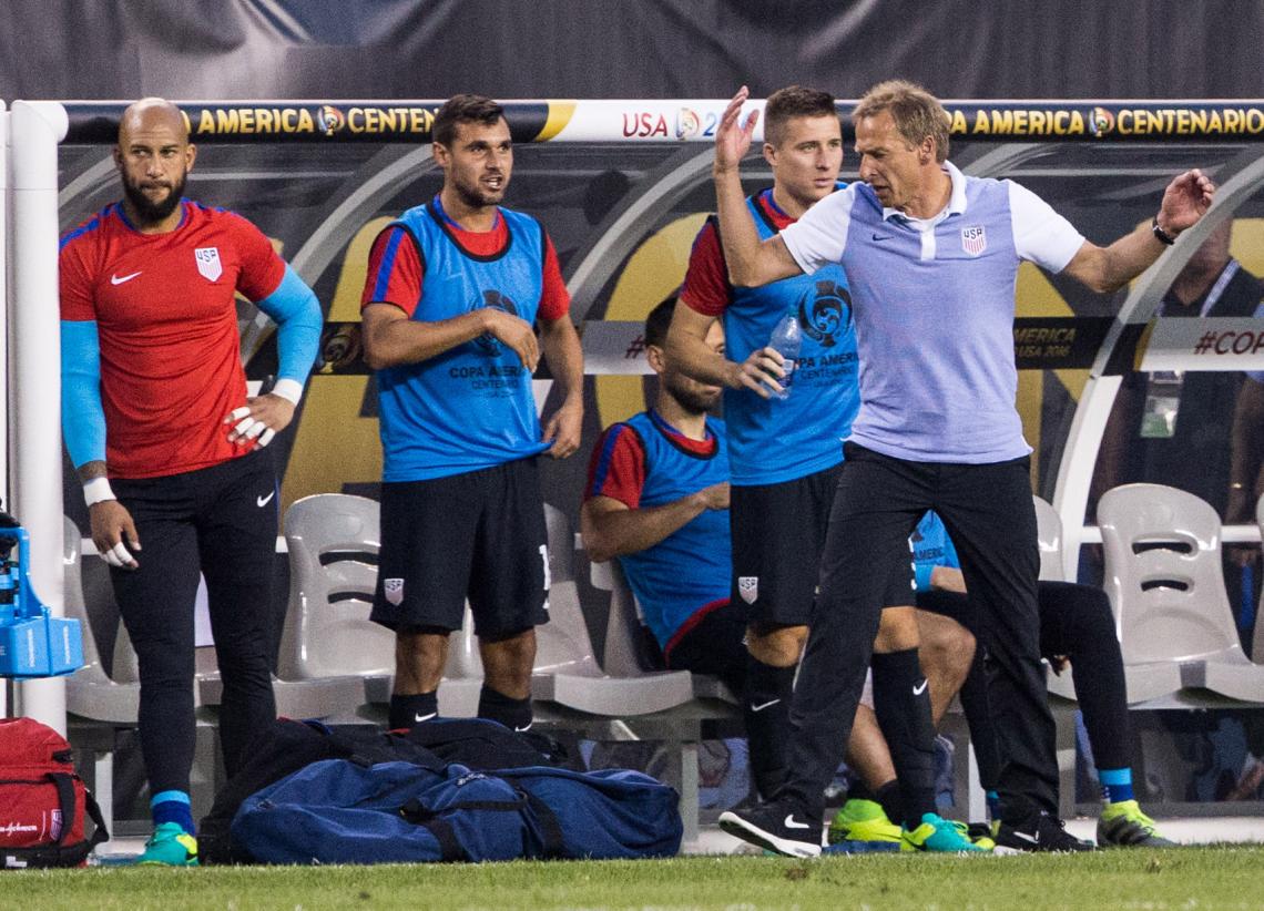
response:
M123 200L62 238L62 419L140 667L154 834L140 863L197 863L193 605L206 579L231 776L276 716L267 630L277 479L267 445L293 418L322 316L241 216L183 198L197 148L162 99L123 115ZM246 394L240 292L278 323L278 380ZM144 550L142 550L142 542Z

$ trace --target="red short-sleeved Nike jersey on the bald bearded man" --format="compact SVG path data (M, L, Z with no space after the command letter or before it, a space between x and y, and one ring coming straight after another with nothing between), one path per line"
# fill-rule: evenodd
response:
M95 323L111 478L209 468L249 450L224 418L245 404L235 294L272 294L286 264L234 212L181 201L166 234L137 231L121 203L62 238L63 323Z

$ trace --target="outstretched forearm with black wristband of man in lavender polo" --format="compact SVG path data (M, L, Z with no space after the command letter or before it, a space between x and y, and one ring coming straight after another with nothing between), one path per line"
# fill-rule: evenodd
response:
M1181 231L1192 227L1207 212L1215 192L1216 184L1197 168L1177 176L1163 192L1163 202L1152 224L1141 225L1106 248L1085 241L1067 264L1066 274L1097 292L1124 287L1145 272Z

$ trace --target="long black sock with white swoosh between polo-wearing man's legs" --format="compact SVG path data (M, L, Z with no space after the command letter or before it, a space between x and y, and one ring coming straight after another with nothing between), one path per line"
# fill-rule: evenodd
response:
M891 748L900 782L908 829L935 811L935 729L930 720L930 692L918 662L918 649L873 655L873 711ZM894 821L895 817L892 817Z

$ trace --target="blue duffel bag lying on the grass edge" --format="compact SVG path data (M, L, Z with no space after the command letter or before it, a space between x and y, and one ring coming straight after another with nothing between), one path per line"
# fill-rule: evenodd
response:
M640 772L471 772L315 762L248 797L233 842L263 863L671 857L676 792Z

